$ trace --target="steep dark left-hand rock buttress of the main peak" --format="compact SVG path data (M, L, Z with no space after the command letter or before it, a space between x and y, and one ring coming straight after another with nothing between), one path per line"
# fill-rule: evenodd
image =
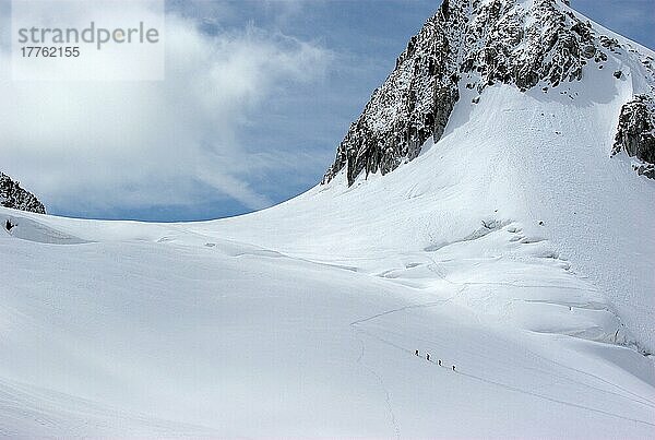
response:
M457 48L466 14L454 3L463 2L444 1L412 37L394 71L350 126L323 182L346 166L349 185L362 171L386 174L415 158L428 138L441 138L460 98Z

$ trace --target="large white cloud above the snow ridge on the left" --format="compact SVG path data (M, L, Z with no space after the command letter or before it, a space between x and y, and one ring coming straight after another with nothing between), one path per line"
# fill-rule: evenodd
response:
M167 16L164 82L13 82L3 50L0 169L59 206L196 203L203 185L270 204L252 181L286 160L261 160L265 142L240 133L279 87L321 79L332 55L252 25L210 36L195 24Z

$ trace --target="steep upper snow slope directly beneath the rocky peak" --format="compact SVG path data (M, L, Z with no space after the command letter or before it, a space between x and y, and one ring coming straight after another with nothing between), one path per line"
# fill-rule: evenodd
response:
M458 241L483 221L517 222L588 278L652 353L655 182L609 155L630 81L602 71L591 79L592 87L572 83L557 94L493 86L477 105L463 90L441 141L410 164L215 227L299 255L366 258Z

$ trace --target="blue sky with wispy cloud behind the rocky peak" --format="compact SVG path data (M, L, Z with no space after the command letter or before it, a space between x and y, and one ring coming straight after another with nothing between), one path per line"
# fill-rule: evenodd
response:
M112 135L123 128L103 122L78 136L85 143L76 151L84 154L73 157L61 143L61 154L5 156L9 167L3 170L40 194L50 213L76 217L209 219L282 202L321 179L349 123L439 3L169 0L167 44L190 43L184 43L187 48L180 44L175 59L167 59L172 73L164 84L107 84L100 91L83 85L66 93L80 94L81 106L117 100L116 108L129 104L142 111L169 112L162 121L143 118L138 124L146 133L158 128L154 135L163 136L160 154L157 144L143 154L129 145L115 147L111 142L122 138ZM655 47L655 1L572 0L572 7ZM238 56L226 57L222 50ZM203 53L210 52L211 59L204 60ZM207 76L207 71L214 73ZM107 115L80 116L62 124L95 127ZM57 140L60 134L45 131L43 136ZM107 152L86 154L88 145ZM71 168L46 178L58 160Z

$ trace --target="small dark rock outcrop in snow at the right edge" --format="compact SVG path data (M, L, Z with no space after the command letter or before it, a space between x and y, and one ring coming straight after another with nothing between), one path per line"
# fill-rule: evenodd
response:
M621 108L612 155L622 151L643 163L634 167L640 176L655 179L655 99L652 95L635 95Z

